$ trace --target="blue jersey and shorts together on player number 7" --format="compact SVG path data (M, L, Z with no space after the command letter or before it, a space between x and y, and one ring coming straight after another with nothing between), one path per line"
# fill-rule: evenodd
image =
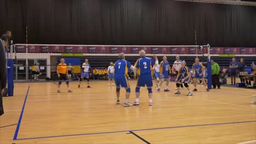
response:
M115 85L117 87L130 87L129 82L125 75L127 75L128 70L131 68L131 63L125 61L124 59L120 59L115 62L114 69L115 69Z

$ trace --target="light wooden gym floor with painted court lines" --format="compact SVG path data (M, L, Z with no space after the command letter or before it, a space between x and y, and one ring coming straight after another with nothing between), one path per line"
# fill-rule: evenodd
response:
M77 85L71 82L73 93L62 85L59 94L53 82L15 83L15 96L3 98L0 143L256 143L255 89L200 85L193 97L187 90L177 97L171 82L171 92L154 86L153 106L141 88L141 105L123 107L124 89L116 105L107 81ZM136 81L130 85L132 103Z

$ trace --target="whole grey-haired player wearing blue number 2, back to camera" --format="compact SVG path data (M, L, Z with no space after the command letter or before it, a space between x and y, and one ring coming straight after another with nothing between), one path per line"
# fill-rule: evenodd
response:
M152 105L152 67L158 65L158 58L154 56L154 61L152 58L146 57L146 52L144 50L139 51L139 56L141 58L139 58L135 63L135 67L138 70L139 76L135 89L136 100L133 105L139 105L139 90L141 87L145 86L147 86L148 89L149 105Z

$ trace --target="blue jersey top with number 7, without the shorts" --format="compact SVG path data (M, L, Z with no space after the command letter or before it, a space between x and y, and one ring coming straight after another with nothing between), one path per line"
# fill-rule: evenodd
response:
M131 63L125 61L124 59L119 59L115 62L115 75L126 75L128 70L131 68Z

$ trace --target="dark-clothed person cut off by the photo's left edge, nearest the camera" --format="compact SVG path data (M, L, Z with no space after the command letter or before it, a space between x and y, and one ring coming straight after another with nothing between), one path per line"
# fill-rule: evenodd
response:
M4 41L0 39L0 116L4 114L3 109L3 92L7 85L6 78L6 58L4 50Z

